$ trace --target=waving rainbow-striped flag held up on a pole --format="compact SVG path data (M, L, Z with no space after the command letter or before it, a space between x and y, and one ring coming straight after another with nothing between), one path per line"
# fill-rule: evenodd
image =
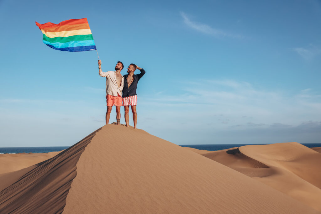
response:
M53 49L70 52L96 50L87 18L69 19L59 24L36 22L36 25L43 33L43 43Z

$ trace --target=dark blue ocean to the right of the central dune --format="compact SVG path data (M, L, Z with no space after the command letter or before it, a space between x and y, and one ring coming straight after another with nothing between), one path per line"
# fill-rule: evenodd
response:
M180 145L182 147L190 147L198 150L208 150L208 151L217 151L225 150L233 147L247 146L247 145L259 145L259 144L200 144L200 145ZM266 144L261 144L266 145ZM321 147L321 143L302 143L302 145L312 148L312 147Z

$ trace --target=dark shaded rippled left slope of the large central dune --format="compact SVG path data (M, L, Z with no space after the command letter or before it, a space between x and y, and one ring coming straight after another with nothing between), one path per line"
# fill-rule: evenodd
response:
M53 158L2 174L0 183L9 186L0 185L0 213L61 213L76 163L97 131Z

